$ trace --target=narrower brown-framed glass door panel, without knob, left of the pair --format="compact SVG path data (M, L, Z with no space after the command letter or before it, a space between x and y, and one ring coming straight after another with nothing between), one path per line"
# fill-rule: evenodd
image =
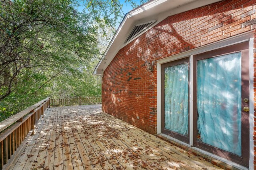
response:
M162 68L162 132L188 142L188 58L166 63Z

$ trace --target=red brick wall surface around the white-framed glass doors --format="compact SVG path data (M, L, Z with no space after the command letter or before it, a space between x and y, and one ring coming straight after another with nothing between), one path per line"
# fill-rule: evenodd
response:
M169 16L117 53L102 77L102 110L152 134L156 133L156 65L146 62L188 51L254 30L256 0L224 0ZM256 101L256 50L254 50ZM254 103L256 108L256 103ZM256 111L256 109L254 109ZM140 119L136 119L136 117ZM256 117L256 112L255 112ZM256 155L256 118L254 118ZM254 158L256 162L256 157ZM256 168L255 168L256 169Z

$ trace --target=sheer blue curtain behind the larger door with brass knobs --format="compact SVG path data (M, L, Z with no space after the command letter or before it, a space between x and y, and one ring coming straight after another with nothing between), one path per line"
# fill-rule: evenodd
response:
M197 61L198 140L241 156L241 53Z

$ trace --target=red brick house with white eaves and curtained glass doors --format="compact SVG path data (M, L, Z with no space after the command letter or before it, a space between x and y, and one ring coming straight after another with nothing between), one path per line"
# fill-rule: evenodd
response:
M256 169L254 48L256 0L151 0L126 14L94 70L102 110Z

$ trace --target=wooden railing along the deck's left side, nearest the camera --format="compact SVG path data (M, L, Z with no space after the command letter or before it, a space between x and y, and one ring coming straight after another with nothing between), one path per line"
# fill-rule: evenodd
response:
M9 169L12 161L24 150L34 125L50 107L50 97L0 122L0 170Z

